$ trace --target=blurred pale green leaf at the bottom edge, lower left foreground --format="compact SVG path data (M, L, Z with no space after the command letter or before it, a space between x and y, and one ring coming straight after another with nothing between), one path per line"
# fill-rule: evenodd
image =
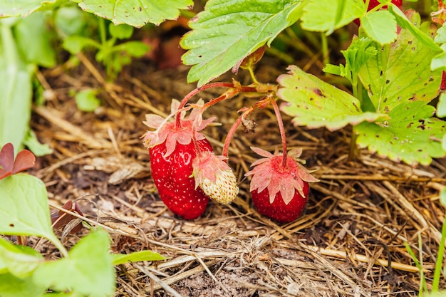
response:
M56 291L73 291L76 296L112 296L115 271L109 241L107 232L92 231L73 246L67 258L39 266L33 282Z

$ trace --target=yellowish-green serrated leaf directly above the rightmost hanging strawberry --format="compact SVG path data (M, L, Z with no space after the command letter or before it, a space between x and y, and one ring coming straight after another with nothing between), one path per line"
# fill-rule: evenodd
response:
M279 76L277 81L282 87L277 95L287 102L281 110L294 117L295 125L333 131L348 124L386 118L378 113L363 113L357 98L296 66L290 66L289 74Z

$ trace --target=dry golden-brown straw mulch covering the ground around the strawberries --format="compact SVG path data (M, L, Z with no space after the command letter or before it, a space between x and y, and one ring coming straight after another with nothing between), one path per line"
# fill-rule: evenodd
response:
M185 221L160 201L140 136L146 113L166 115L172 98L195 88L185 82L187 68L157 71L142 63L110 84L80 58L77 68L41 73L48 101L34 109L32 127L54 152L38 158L34 173L46 182L53 211L78 202L90 224L110 232L114 252L150 249L170 257L116 267L116 296L415 296L420 273L405 241L422 256L429 283L445 217L438 197L443 160L414 168L361 151L349 161L351 129L306 130L284 117L289 148L304 149L306 166L321 182L311 184L302 217L276 224L256 212L244 177L258 157L249 147L281 149L274 113L262 110L254 114L256 133L239 130L232 142L239 197L225 206L209 202L201 218ZM285 71L277 68L265 58L259 80L274 82ZM249 83L244 73L236 78ZM72 91L90 87L100 88L103 103L83 113ZM206 130L216 152L237 110L254 100L239 96L206 113L222 123ZM59 235L67 246L83 236ZM40 249L48 257L56 252Z

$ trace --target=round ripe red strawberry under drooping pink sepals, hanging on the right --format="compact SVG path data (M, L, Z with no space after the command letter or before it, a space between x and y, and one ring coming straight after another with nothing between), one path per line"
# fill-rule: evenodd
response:
M249 191L257 211L278 222L293 222L304 210L308 182L318 179L294 159L301 155L301 150L290 152L284 165L283 154L273 155L257 147L251 149L265 157L254 162L251 165L254 169L245 174L252 175Z

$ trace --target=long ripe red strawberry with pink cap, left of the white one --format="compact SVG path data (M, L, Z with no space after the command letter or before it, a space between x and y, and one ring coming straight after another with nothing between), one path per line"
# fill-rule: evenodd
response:
M172 101L172 115L176 114L178 101ZM212 152L210 143L198 132L213 120L202 120L199 110L192 110L182 118L180 126L175 121L166 122L159 115L147 115L145 125L155 128L147 131L143 142L149 149L152 177L162 202L175 214L185 219L195 219L206 209L209 197L201 188L195 189L192 161L197 147L192 141L195 133L199 151Z

